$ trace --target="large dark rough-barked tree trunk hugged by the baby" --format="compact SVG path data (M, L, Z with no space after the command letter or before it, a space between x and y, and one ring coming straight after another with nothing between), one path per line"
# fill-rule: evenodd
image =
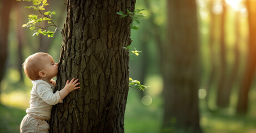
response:
M50 132L124 132L130 19L116 12L134 11L135 0L67 5L56 90L73 77L81 88L53 106Z

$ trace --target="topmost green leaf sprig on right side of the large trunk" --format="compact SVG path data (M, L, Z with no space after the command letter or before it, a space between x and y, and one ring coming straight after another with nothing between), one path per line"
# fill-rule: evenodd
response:
M120 18L124 18L124 17L127 17L130 19L130 29L139 29L139 26L135 24L135 22L137 24L140 23L140 18L143 18L145 17L145 15L143 13L141 13L140 11L143 11L145 9L135 9L135 11L133 12L129 12L128 9L126 9L127 13L124 14L122 11L119 11L117 12L118 15L120 15L121 17Z

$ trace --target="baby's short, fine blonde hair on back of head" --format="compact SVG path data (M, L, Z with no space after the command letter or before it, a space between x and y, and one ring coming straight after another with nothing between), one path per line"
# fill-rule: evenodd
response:
M39 71L43 69L42 57L47 57L49 54L47 53L35 53L30 55L25 62L22 64L25 74L31 80L41 79L39 76Z

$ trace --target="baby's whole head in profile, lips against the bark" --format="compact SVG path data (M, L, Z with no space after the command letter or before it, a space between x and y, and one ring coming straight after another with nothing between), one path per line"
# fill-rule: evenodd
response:
M47 53L36 53L25 60L23 69L31 80L48 80L57 76L58 63L54 63L52 56Z

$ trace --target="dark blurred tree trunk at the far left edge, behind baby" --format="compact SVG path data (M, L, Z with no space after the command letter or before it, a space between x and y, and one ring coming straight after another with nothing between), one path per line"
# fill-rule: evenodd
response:
M6 60L8 55L8 29L9 29L9 14L12 8L13 0L2 1L2 12L0 16L0 83L3 79L6 70ZM1 92L1 91L0 91Z

